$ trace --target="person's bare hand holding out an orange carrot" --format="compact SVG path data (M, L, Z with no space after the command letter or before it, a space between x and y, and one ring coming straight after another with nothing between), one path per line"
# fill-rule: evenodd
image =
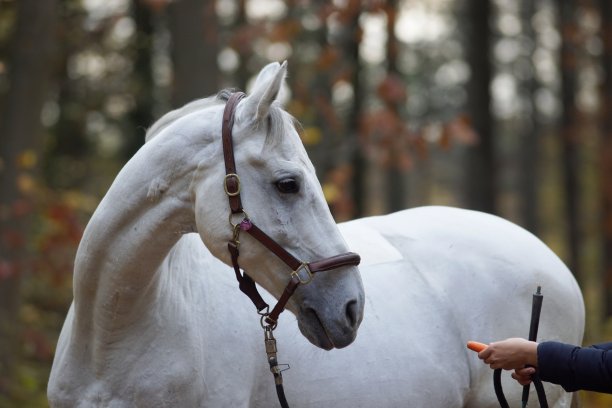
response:
M526 365L537 366L538 343L521 338L510 338L489 344L478 353L492 369L516 370Z

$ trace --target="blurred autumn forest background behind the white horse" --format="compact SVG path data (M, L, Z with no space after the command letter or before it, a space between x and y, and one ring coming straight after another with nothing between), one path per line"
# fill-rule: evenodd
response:
M47 406L82 230L147 127L282 60L338 221L508 218L612 340L610 0L0 0L0 407Z

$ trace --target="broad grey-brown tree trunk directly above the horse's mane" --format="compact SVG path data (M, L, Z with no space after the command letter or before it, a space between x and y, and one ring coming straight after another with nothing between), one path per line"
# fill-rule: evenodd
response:
M168 15L174 68L172 105L178 107L218 90L215 1L173 1Z

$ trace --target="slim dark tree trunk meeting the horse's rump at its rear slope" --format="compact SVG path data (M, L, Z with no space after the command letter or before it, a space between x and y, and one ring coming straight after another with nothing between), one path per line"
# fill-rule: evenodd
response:
M576 60L575 39L576 8L574 2L559 0L561 31L561 104L559 123L561 133L561 157L563 163L563 186L565 190L565 221L567 224L567 263L575 276L580 276L580 185L579 185L579 135L576 111Z

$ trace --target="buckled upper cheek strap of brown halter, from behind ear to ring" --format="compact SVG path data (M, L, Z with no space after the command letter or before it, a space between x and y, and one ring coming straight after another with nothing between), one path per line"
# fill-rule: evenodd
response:
M234 160L234 141L232 140L232 128L238 103L245 97L243 92L234 92L230 95L223 111L223 124L221 127L221 138L223 139L223 159L225 161L225 192L229 198L232 214L242 211L240 200L240 178L236 172L236 161Z

